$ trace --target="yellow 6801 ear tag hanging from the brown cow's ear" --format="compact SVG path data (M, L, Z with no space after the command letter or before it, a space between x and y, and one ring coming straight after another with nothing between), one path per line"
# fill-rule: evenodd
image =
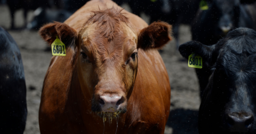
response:
M58 36L52 43L52 55L54 56L66 56L66 46L61 42Z

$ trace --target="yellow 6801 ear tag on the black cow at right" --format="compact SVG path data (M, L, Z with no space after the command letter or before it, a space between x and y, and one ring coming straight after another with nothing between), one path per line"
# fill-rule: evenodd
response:
M197 68L197 69L202 69L203 68L203 59L201 56L197 55L193 57L193 54L190 54L188 56L188 67L190 68Z

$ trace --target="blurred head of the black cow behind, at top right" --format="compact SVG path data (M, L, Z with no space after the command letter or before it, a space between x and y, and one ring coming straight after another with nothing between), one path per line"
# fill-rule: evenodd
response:
M246 11L241 8L243 4L252 3L248 0L208 0L210 4L209 12L211 18L215 21L215 34L226 36L228 31L238 27L238 23L241 22L241 14L247 14ZM205 16L209 19L209 16ZM249 16L243 16L249 18Z

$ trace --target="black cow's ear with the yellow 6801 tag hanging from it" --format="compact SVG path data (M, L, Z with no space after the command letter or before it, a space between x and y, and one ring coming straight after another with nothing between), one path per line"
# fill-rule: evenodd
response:
M206 65L211 64L212 62L212 55L215 49L215 45L206 46L199 41L188 41L179 46L180 54L188 59L188 56L195 53L203 58L203 63Z

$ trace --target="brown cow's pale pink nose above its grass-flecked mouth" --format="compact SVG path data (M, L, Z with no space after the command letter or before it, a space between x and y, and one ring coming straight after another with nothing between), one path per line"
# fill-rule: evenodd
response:
M123 102L122 96L100 96L99 100L102 112L116 112Z

